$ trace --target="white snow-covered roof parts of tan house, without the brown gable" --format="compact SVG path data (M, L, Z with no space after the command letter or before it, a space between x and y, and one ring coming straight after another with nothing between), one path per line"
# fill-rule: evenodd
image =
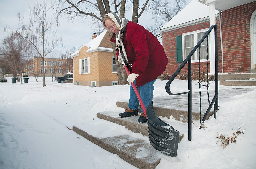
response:
M90 42L88 42L87 44L84 44L82 46L79 47L79 49L72 53L70 56L71 57L75 57L75 56L79 56L79 51L83 48L83 47L88 47L89 49L86 52L95 52L95 51L107 51L107 52L112 52L112 48L108 48L108 47L102 47L101 46L101 42L104 39L105 35L108 36L107 30L102 32L99 36L97 36L96 38L92 39ZM110 42L109 42L110 43Z

